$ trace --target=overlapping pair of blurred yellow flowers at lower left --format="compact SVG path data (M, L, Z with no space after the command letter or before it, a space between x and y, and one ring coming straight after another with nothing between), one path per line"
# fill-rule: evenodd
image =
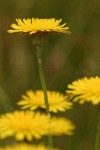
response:
M58 126L58 127L57 127ZM75 126L64 118L50 117L33 111L15 111L0 117L0 138L14 136L16 140L32 141L43 135L71 135Z

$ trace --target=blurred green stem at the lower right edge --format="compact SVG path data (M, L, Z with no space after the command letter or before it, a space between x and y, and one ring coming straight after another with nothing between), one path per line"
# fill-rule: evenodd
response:
M99 116L98 130L96 134L95 150L100 150L100 116Z

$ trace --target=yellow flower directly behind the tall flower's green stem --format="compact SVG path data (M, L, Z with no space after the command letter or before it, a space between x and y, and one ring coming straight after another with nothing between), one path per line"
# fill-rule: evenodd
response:
M47 91L50 111L57 113L58 111L65 111L72 108L72 103L65 99L63 94L55 91ZM30 108L35 110L38 107L46 108L43 91L33 92L29 90L26 95L22 95L22 100L18 102L22 109Z

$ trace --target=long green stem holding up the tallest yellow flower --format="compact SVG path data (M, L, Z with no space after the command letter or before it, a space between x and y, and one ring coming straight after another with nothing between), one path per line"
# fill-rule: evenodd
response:
M36 50L37 50L39 75L40 75L42 89L43 89L43 92L44 92L44 100L45 100L45 105L46 105L46 114L49 115L50 110L49 110L47 88L46 88L46 83L45 83L45 78L44 78L44 73L43 73L43 67L42 67L42 47L36 46ZM53 142L52 142L51 134L48 135L48 143L49 143L50 148L53 148Z

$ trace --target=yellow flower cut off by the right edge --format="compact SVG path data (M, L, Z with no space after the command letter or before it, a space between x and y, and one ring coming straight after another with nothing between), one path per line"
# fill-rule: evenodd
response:
M68 85L66 91L68 98L73 101L91 102L93 105L100 103L100 77L83 78Z

